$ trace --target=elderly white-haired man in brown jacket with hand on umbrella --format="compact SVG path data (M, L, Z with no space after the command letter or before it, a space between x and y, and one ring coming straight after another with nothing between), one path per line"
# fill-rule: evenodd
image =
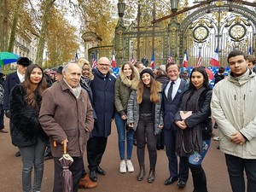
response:
M60 83L44 92L39 121L49 136L54 157L53 191L62 192L62 166L59 159L63 147L67 146L67 153L73 157L73 164L69 167L73 175L73 192L77 192L84 167L85 144L93 129L94 119L89 96L79 84L81 68L76 63L69 63L62 72Z

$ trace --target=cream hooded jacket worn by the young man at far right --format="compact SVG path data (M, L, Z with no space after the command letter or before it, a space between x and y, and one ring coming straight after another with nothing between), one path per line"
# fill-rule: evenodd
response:
M213 88L212 116L218 123L220 149L243 159L256 159L256 75L251 70L240 77L230 73ZM247 138L240 145L230 142L236 131Z

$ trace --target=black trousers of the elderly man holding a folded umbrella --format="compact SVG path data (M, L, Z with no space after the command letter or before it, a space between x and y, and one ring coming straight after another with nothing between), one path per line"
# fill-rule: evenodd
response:
M54 158L55 162L55 182L53 192L62 192L61 185L61 172L63 170L60 158ZM73 177L73 192L79 191L79 180L82 177L82 171L84 167L83 157L73 157L73 163L69 166L69 170L72 172Z

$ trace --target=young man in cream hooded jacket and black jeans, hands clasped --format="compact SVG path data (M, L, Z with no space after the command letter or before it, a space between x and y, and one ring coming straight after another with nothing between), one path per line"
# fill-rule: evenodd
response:
M218 123L219 148L225 155L233 192L256 189L256 75L246 59L240 50L231 51L230 74L212 91L212 116Z

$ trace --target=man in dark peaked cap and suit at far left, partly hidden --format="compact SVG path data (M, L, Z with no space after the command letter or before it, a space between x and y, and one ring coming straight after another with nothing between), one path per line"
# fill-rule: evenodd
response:
M3 95L3 110L5 116L9 118L9 94L15 87L15 84L20 84L25 80L26 67L30 65L30 61L27 57L20 57L17 61L17 71L10 73L3 82L4 95ZM9 122L10 131L11 122ZM20 156L20 151L15 154L16 157Z

